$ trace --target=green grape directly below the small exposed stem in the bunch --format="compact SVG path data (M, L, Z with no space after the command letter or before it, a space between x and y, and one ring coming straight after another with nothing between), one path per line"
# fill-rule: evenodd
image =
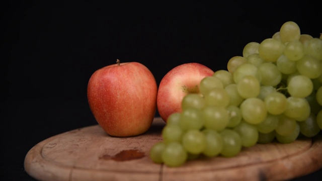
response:
M264 99L267 107L267 112L272 115L282 114L287 107L287 98L284 94L273 92L267 95Z

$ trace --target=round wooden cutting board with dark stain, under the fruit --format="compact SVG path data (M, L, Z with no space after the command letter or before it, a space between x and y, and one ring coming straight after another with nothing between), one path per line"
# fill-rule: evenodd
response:
M99 125L50 137L25 157L25 170L39 180L285 180L322 167L322 138L290 144L257 144L235 157L188 161L180 167L156 164L149 158L165 122L155 118L144 134L117 138Z

